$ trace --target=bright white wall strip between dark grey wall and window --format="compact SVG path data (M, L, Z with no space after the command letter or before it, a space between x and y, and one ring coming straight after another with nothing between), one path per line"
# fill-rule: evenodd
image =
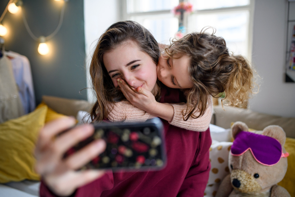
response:
M89 64L93 48L95 48L99 36L119 20L118 7L118 0L84 0L87 87L91 87ZM92 91L88 89L87 92L88 100L93 102Z

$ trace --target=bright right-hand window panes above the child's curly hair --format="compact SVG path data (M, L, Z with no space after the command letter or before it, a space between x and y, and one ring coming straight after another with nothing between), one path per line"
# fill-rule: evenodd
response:
M206 26L213 27L215 35L225 39L230 51L251 60L253 0L189 1L194 5L194 12L187 18L188 31L200 32Z

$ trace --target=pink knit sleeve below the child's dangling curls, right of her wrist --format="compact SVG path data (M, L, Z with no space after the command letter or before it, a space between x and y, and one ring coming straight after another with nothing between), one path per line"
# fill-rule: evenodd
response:
M184 121L182 116L182 111L186 110L186 105L172 104L172 106L174 108L174 116L172 121L169 122L171 125L191 131L206 131L208 129L213 112L211 98L207 103L207 109L203 116L199 118L189 117L187 121ZM200 111L198 110L199 109L196 109L194 111L194 115L200 114Z

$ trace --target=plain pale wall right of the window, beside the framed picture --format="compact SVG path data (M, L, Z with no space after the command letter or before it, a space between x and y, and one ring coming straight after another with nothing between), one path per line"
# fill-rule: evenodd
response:
M295 83L285 83L287 0L255 0L252 63L263 78L250 109L295 117Z

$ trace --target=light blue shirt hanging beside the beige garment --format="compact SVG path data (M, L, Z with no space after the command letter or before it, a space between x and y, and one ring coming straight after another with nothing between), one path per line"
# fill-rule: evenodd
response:
M5 52L5 54L13 57L10 61L25 114L32 112L36 104L29 60L26 56L12 51Z

